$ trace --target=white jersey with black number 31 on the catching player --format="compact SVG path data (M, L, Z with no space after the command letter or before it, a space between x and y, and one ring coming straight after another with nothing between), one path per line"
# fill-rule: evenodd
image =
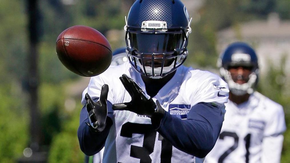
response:
M135 80L146 93L141 75L126 62L122 65L110 66L104 73L92 77L88 85L88 94L92 98L99 97L102 85L107 84L110 103L130 102L131 96L119 80L122 74ZM159 100L163 109L171 115L186 119L191 107L199 102L211 102L223 106L227 102L228 92L227 84L218 75L180 66L173 78L160 89L153 100ZM86 103L84 100L86 93L87 90L83 92L83 105ZM105 143L103 162L140 162L142 157L158 163L162 150L171 150L171 162L195 162L194 156L174 146L172 149L162 149L162 139L162 136L153 129L150 118L131 111L114 111L113 125ZM143 152L145 147L152 152Z

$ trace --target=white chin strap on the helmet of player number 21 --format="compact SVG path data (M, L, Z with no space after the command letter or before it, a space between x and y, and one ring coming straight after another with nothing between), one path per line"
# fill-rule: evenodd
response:
M220 74L224 77L229 85L231 93L233 93L234 95L242 96L245 94L252 94L254 92L253 86L255 85L255 82L257 80L256 73L253 72L252 74L250 74L249 81L244 84L235 83L231 77L231 73L223 67L220 68ZM242 76L240 78L242 78Z

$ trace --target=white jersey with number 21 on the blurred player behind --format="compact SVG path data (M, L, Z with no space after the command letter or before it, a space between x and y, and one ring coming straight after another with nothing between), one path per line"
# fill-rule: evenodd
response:
M285 130L282 106L262 94L240 105L229 100L220 137L204 162L280 162Z

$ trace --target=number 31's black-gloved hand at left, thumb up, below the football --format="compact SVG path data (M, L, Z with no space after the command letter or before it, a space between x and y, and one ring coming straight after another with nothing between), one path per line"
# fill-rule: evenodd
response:
M95 131L101 132L106 127L106 118L108 114L107 109L108 91L109 91L108 85L104 84L102 86L100 98L97 102L94 102L88 93L85 96L86 109L88 111L88 119L90 122L90 127L92 127Z

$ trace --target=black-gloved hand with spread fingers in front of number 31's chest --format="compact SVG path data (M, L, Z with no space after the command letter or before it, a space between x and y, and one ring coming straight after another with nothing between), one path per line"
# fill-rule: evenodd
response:
M152 98L144 93L139 85L126 76L125 74L120 77L125 89L130 94L132 100L130 102L124 102L113 105L113 110L128 110L139 115L146 115L151 117L156 113L157 106Z

